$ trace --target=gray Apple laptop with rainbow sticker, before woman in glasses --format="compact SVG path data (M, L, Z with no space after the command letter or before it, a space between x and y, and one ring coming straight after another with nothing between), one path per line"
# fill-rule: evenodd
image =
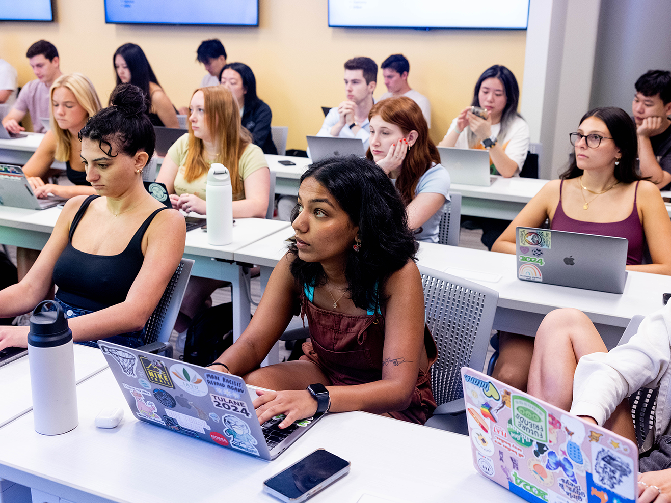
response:
M615 294L625 289L624 237L517 227L515 245L520 280Z

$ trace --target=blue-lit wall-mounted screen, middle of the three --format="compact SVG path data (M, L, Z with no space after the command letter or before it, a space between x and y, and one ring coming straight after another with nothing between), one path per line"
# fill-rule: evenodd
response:
M258 26L258 0L105 0L105 22Z

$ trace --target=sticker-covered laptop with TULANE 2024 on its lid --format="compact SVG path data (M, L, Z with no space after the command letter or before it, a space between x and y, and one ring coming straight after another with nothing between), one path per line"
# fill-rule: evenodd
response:
M270 461L324 415L281 430L284 416L260 426L242 378L140 349L98 345L134 416L194 439Z

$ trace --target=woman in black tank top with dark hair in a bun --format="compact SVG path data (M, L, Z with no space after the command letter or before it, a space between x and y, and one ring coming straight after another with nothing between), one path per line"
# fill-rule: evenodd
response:
M142 184L155 142L142 91L123 85L111 103L79 133L87 178L97 195L66 203L30 272L0 290L0 317L31 311L53 280L74 341L138 346L184 253L186 228L183 217ZM25 347L27 336L28 327L5 327L0 350Z

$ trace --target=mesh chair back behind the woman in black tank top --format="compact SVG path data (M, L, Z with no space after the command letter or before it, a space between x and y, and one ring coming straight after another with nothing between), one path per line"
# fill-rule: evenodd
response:
M189 277L191 277L191 268L193 268L193 260L183 258L180 260L177 270L170 278L168 286L161 300L158 301L154 313L147 320L144 325L144 343L152 342L168 342L170 334L172 334L172 327L177 320L179 308L182 306L184 293L187 290Z

